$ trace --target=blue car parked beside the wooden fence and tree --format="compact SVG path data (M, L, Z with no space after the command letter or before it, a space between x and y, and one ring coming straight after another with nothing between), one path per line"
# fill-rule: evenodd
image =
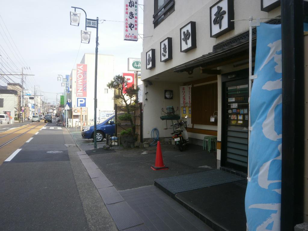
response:
M115 115L104 120L102 123L96 124L96 141L102 142L107 135L115 134ZM94 126L87 127L82 130L83 139L94 139Z

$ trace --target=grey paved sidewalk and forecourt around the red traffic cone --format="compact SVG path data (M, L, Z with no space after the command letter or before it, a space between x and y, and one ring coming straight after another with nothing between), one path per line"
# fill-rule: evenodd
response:
M245 225L245 221L243 222L242 219L240 219L240 223L243 224L238 225L239 229L234 229L237 224L235 226L225 224L229 223L234 216L226 219L221 209L221 207L227 208L225 211L229 211L229 214L242 217L243 209L238 209L239 206L241 207L241 203L230 208L232 205L228 200L221 200L224 197L222 192L226 192L225 190L229 190L230 187L234 188L234 184L238 186L240 183L226 182L229 184L222 184L225 187L223 191L221 185L217 185L189 190L173 196L164 188L156 185L159 187L157 188L153 185L155 179L168 179L168 177L180 177L216 169L216 153L203 151L202 147L192 144L180 152L173 149L173 145L163 144L161 145L163 160L169 169L153 171L150 167L155 162L156 146L104 150L99 148L103 146L104 142L102 142L98 143L97 149L94 149L93 140L82 139L80 132L71 129L71 135L79 148L85 150L79 153L81 154L79 155L80 159L87 164L93 163L91 165L93 169L89 169L88 172L90 176L92 174L92 180L105 204L109 204L107 208L111 209L109 212L119 230L123 228L123 222L119 223L119 221L123 221L125 218L117 217L113 213L119 215L123 206L125 209L128 209L129 206L133 210L132 213L140 219L136 220L139 223L142 222L141 224L137 222L139 226L127 227L132 230L243 230L242 226ZM99 174L97 174L98 169L100 170ZM96 175L93 171L96 172ZM100 180L99 177L101 177ZM230 195L237 195L238 192L240 194L235 201L244 202L242 197L243 192L245 195L245 186L236 187ZM215 197L215 195L219 195L219 197ZM234 213L234 210L239 210L239 212ZM127 211L125 210L121 216L125 216ZM225 222L217 224L220 220L225 220ZM235 217L233 221L236 223L237 218Z

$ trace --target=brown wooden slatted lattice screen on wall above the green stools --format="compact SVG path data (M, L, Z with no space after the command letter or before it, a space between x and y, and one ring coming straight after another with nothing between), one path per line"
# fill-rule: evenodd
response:
M217 111L217 83L192 87L192 124L215 125L211 115Z

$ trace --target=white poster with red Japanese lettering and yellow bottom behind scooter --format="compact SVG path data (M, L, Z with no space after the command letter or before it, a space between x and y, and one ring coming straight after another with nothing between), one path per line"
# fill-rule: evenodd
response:
M180 106L182 120L184 120L185 116L191 118L191 88L192 85L180 87ZM186 119L185 121L190 120Z

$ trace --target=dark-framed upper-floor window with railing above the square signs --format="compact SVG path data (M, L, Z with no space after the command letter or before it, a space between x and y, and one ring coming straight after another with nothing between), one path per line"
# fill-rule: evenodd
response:
M174 11L174 0L154 0L154 28Z

